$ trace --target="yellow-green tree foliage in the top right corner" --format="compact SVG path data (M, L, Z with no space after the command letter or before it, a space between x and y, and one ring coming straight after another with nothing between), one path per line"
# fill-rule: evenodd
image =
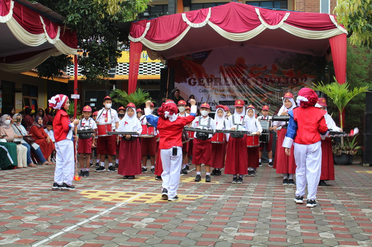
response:
M372 0L337 0L334 12L352 44L372 49Z

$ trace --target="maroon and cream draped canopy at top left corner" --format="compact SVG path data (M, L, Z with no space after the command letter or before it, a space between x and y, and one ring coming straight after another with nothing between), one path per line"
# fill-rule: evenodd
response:
M76 55L76 32L51 19L64 20L38 3L0 0L0 70L26 72L50 56Z

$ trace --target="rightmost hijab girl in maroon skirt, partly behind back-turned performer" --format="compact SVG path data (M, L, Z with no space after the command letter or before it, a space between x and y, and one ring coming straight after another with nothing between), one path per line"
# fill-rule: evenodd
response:
M319 107L321 110L327 112L327 101L325 100L325 98L319 98L318 103L315 104L315 107ZM333 131L343 131L341 128L336 126L336 123L333 121L332 117L328 114L328 112L324 115L324 118L325 123L327 123L328 129ZM328 186L325 180L334 180L334 162L331 138L328 137L321 138L321 148L322 165L319 186Z

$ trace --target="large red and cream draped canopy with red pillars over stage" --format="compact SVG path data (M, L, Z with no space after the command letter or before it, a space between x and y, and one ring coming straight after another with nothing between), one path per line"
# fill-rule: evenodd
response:
M331 47L336 79L346 81L346 29L331 14L221 6L131 23L128 93L135 90L142 50L170 59L230 46L256 46L323 56Z

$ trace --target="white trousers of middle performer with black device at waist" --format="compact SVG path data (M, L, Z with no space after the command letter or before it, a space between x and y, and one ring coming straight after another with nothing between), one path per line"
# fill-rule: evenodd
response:
M168 198L177 195L178 185L180 184L180 171L182 165L182 147L177 146L177 155L172 155L173 148L160 149L161 162L163 163L163 188L168 191Z

